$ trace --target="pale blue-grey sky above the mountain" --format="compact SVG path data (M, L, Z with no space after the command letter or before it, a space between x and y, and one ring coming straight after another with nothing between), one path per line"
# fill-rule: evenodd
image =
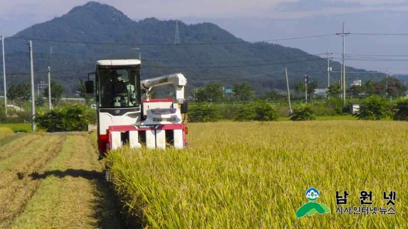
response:
M86 0L2 0L0 27L5 36L33 24L66 14ZM121 10L134 20L146 17L179 19L185 23L212 22L246 41L296 38L315 35L354 33L346 37L346 55L372 55L367 60L349 57L346 65L385 72L408 74L408 36L355 35L408 34L408 1L406 0L116 0L97 1ZM182 37L180 38L182 42ZM310 54L323 54L329 48L333 60L340 61L342 37L273 41L296 47ZM406 57L377 57L377 56ZM358 56L360 57L360 56ZM377 59L374 59L377 58ZM378 59L387 58L390 61ZM362 58L359 58L362 59ZM394 61L395 60L395 61ZM340 73L339 73L340 74Z

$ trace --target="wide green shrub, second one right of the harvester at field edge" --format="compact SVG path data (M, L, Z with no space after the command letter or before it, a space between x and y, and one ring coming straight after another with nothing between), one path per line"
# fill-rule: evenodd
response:
M234 121L276 121L276 110L266 101L258 100L253 105L244 106L239 109Z

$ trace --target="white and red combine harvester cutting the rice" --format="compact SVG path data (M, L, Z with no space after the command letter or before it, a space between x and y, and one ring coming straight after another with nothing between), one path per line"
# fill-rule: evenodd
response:
M88 74L87 93L94 93L90 74L95 74L98 115L98 147L101 156L125 143L130 147L186 146L188 133L181 114L186 79L175 73L140 81L140 60L101 60ZM150 99L155 86L173 85L173 98Z

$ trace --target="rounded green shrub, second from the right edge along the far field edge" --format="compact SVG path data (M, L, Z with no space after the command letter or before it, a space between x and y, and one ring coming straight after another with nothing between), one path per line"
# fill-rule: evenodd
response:
M378 96L368 97L360 104L358 111L353 116L362 120L380 120L387 117L387 103L386 100Z

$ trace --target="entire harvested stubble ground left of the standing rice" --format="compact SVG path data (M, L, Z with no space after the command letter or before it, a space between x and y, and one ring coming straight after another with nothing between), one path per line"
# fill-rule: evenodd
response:
M87 133L0 145L0 228L121 228Z

